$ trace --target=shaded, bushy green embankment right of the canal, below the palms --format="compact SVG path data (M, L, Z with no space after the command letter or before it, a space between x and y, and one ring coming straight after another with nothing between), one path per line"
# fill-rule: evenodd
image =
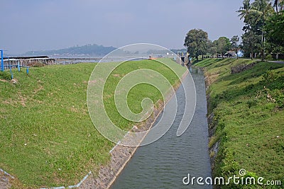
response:
M219 141L214 176L249 176L284 184L284 64L258 62L231 74L231 67L251 64L248 59L204 59L209 89L209 127L215 130L209 147ZM214 152L210 154L214 156ZM260 188L229 185L222 188ZM278 186L279 187L279 186ZM275 187L275 188L278 188Z

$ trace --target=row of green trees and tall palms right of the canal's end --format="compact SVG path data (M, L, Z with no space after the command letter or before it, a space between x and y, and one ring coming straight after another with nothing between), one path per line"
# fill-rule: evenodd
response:
M234 35L231 40L221 37L213 42L208 33L201 29L190 30L185 37L185 47L190 57L217 54L224 55L229 50L244 50L247 57L284 54L284 0L244 0L238 11L244 20L244 34ZM271 55L270 55L271 56Z

